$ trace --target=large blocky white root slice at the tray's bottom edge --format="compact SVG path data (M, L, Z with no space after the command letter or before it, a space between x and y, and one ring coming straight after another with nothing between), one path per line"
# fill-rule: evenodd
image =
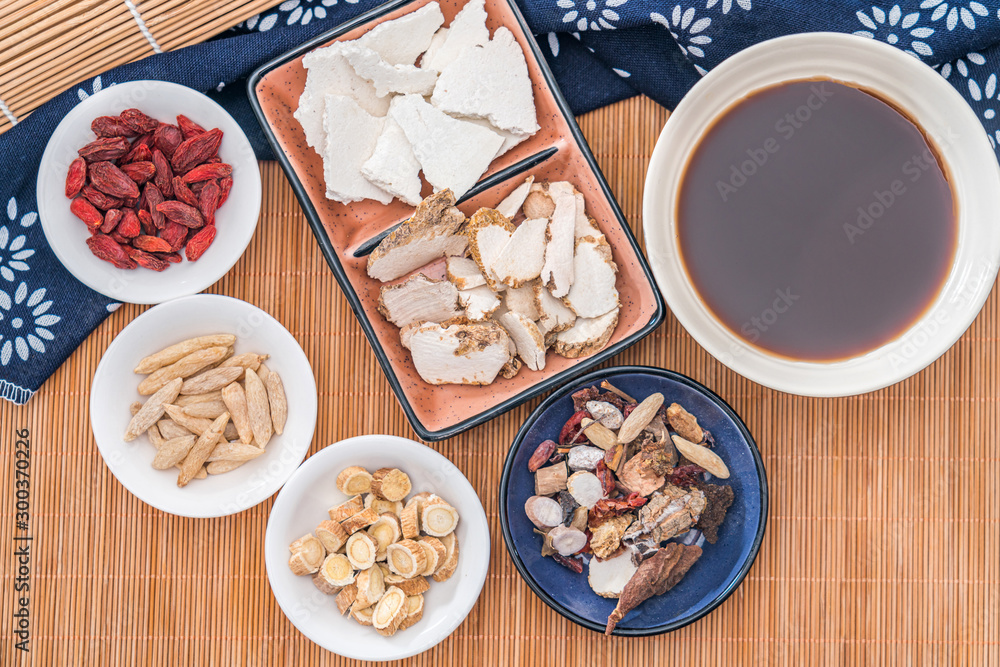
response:
M496 322L411 325L400 339L430 384L490 384L510 360L510 336Z

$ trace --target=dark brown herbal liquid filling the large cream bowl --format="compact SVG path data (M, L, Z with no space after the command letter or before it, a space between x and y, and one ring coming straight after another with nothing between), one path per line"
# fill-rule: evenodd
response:
M809 361L863 354L934 301L956 206L913 121L833 81L768 88L729 108L684 173L684 265L740 338Z

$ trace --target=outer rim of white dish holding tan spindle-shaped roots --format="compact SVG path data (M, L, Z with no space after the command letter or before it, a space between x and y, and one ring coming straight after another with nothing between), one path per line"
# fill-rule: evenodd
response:
M149 313L152 313L157 307L159 307L161 305L164 306L164 307L170 307L170 308L172 308L172 307L176 307L176 306L183 306L186 303L190 303L191 301L196 301L196 300L197 301L228 301L228 302L235 302L237 304L240 304L237 307L239 307L239 308L246 308L248 313L250 313L250 312L258 312L259 314L261 314L263 316L263 318L264 318L265 321L270 321L273 325L277 325L279 333L283 333L284 335L286 335L289 339L291 339L295 343L295 347L294 348L289 348L291 350L291 356L299 356L300 355L301 358L302 358L302 361L305 362L305 367L309 370L309 378L308 378L308 380L311 382L310 386L312 388L311 392L308 392L308 391L306 392L307 396L312 397L312 401L311 401L310 405L305 406L307 408L307 413L308 413L307 417L311 418L312 424L310 425L309 430L308 430L309 437L308 437L308 439L304 440L305 446L302 447L301 453L300 454L293 453L293 459L294 460L289 461L289 463L288 463L288 471L284 474L284 477L281 477L281 476L275 477L274 480L271 482L271 484L261 487L262 491L261 491L260 494L253 495L253 496L251 496L250 498L248 498L246 501L244 501L242 503L234 503L233 504L233 508L230 509L229 511L221 511L220 512L217 509L216 510L212 510L212 511L207 511L207 512L205 512L205 511L190 511L190 510L184 510L184 509L178 510L176 508L170 507L169 503L153 502L149 498L148 493L146 492L145 488L142 486L141 480L132 480L132 479L129 479L128 481L126 481L125 479L122 479L122 477L120 477L117 472L115 472L114 467L108 461L108 456L111 454L112 450L109 448L109 449L107 449L107 451L105 451L105 446L106 445L102 445L101 444L101 439L100 439L100 437L97 434L97 429L95 428L95 424L94 424L95 414L96 413L95 413L95 411L93 409L93 406L99 405L100 404L100 400L104 397L103 394L101 396L97 395L98 389L101 388L101 383L98 382L98 377L106 375L109 372L107 370L107 367L104 366L104 361L105 361L106 358L108 358L108 354L109 353L117 353L118 347L120 347L120 346L122 346L122 345L125 344L123 342L123 339L122 339L122 334L124 334L127 330L135 327L137 322L141 324L145 319L147 319L146 316ZM291 380L291 378L286 378L286 379ZM306 378L298 378L297 382L304 382L305 380L306 380ZM91 405L91 408L89 409L89 414L88 414L88 422L89 422L89 425L90 425L90 431L91 431L91 433L94 436L94 444L97 445L97 450L98 450L98 452L101 455L101 460L104 462L104 465L111 472L112 477L114 477L115 480L119 484L121 484L123 487L125 487L126 491L128 491L130 494L132 494L132 496L134 496L135 498L137 498L140 502L143 502L146 505L149 505L150 507L154 507L157 510L159 510L159 511L165 513L165 514L170 514L170 515L173 515L173 516L183 516L183 517L188 517L188 518L192 518L192 519L215 519L215 518L219 518L219 517L232 516L232 515L235 515L235 514L239 514L241 512L245 512L246 510L248 510L248 509L250 509L252 507L256 507L257 505L263 503L265 500L267 500L268 498L270 498L271 496L273 496L275 493L277 493L278 491L280 491L284 487L284 485L288 482L288 480L291 478L291 476L294 475L295 472L301 467L302 461L309 454L309 448L310 448L310 446L312 444L313 438L316 435L316 418L317 418L317 415L318 415L318 407L319 407L319 401L318 401L317 393L316 393L316 374L312 370L312 364L309 363L309 358L306 356L305 350L302 349L302 346L295 339L295 336L292 335L292 332L290 332L285 327L285 325L283 325L281 322L279 322L277 318L275 318L273 315L271 315L270 313L268 313L266 310L264 310L263 308L260 308L258 306L255 306L254 304L250 303L249 301L244 301L243 299L239 299L239 298L234 297L234 296L228 296L228 295L225 295L225 294L202 294L202 293L199 293L199 294L191 294L189 296L179 297L177 299L170 299L169 301L165 301L163 304L158 304L157 306L154 306L153 308L150 308L150 309L148 309L148 310L140 313L135 318L133 318L132 321L129 322L127 325L125 325L125 327L120 332L118 332L118 334L111 340L111 343L108 345L107 349L105 349L104 353L101 355L101 359L100 359L100 361L97 364L97 368L94 370L94 374L91 377L90 392L88 393L88 396L90 398L90 405ZM126 443L126 445L128 445L128 444L129 443ZM150 470L153 470L153 468L150 468ZM267 491L267 493L264 493L265 490ZM234 495L234 497L238 497L238 495L239 495L238 494L238 490L234 489L233 495ZM210 505L205 505L205 507L211 507L211 506ZM218 507L218 506L216 506L216 507Z

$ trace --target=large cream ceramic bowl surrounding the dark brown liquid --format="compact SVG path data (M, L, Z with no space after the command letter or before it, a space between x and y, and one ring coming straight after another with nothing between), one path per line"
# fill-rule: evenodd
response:
M675 219L685 165L719 114L753 91L813 77L858 84L913 117L950 169L959 211L954 265L924 316L896 340L857 358L830 363L769 354L717 320L682 265ZM874 40L809 33L741 51L709 72L677 105L650 160L643 229L653 274L670 309L712 356L774 389L806 396L848 396L913 375L944 354L975 319L1000 265L998 195L1000 168L986 133L961 95L937 72Z

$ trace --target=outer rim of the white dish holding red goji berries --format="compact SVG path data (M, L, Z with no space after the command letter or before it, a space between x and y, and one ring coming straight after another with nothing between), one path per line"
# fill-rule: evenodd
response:
M93 100L101 100L104 99L105 97L110 97L112 95L120 94L122 93L122 91L125 90L130 90L132 88L141 89L143 87L156 88L160 92L167 92L167 93L174 92L179 95L191 95L202 98L203 101L210 108L213 109L213 112L218 112L219 114L221 114L222 117L227 118L231 122L232 128L227 129L226 134L234 136L237 143L240 144L234 147L234 150L232 151L233 157L239 158L244 155L251 155L254 156L253 162L256 162L256 156L253 151L253 145L250 143L250 138L247 137L246 132L243 130L242 127L240 127L240 124L236 121L235 118L233 118L232 114L226 111L226 109L221 104L213 100L211 97L209 97L208 95L206 95L201 91L191 88L190 86L186 86L181 83L176 83L174 81L161 81L159 79L136 79L134 81L123 81L121 83L108 85L102 90L91 94L85 100L81 101L79 104L76 104L69 111L69 113L67 113L67 115L64 116L59 121L55 129L52 131L52 134L49 135L49 138L45 144L45 149L42 152L42 157L38 163L38 175L35 178L35 194L36 194L36 199L38 200L38 208L39 208L38 214L41 218L42 233L44 234L45 239L49 244L49 247L52 249L52 253L56 256L56 259L66 269L66 271L73 276L74 279L78 280L80 283L94 290L95 292L102 294L110 299L114 299L115 301L121 301L123 303L134 303L139 305L158 305L161 303L165 303L167 301L172 301L174 299L180 299L187 296L192 296L194 294L198 294L201 291L219 282L219 280L221 280L222 277L225 276L230 269L236 266L236 263L239 262L240 259L243 257L244 252L246 252L247 247L250 245L250 241L253 240L253 235L257 231L257 225L260 222L260 212L263 204L263 186L261 184L260 170L256 167L256 164L253 165L252 169L243 170L246 172L242 177L243 181L245 181L248 184L250 190L247 193L241 195L240 199L251 202L251 206L246 214L246 217L248 220L252 220L252 222L247 223L245 234L240 234L239 237L237 237L237 240L239 242L232 244L234 248L239 247L240 251L238 253L236 252L233 253L231 261L229 259L226 259L225 261L217 263L216 266L214 267L214 270L209 272L209 276L215 276L211 280L209 280L209 276L206 276L206 278L204 278L203 280L192 282L191 285L189 285L185 289L175 288L169 292L163 289L161 291L163 291L164 294L156 295L153 297L142 297L142 296L130 295L128 293L127 285L125 289L120 293L108 294L105 291L107 288L104 289L100 288L99 281L91 279L89 276L81 276L80 275L81 272L78 270L78 265L72 261L67 261L67 257L62 252L60 244L52 242L53 235L58 236L59 232L58 229L53 227L54 222L52 222L52 216L46 216L43 215L42 213L43 208L55 205L49 202L47 198L40 196L41 190L43 188L44 177L49 171L51 171L51 169L46 168L46 165L48 165L52 160L55 159L54 152L58 150L55 144L53 144L52 140L53 137L55 137L55 135L60 131L60 128L64 127L66 119L70 114L78 112L78 110L81 107L85 108L86 105L93 105L94 104ZM234 128L235 130L239 131L238 134L233 132ZM250 161L248 160L247 161L248 165L249 162ZM233 164L235 166L236 160L233 161ZM62 188L59 188L58 190L61 195ZM66 201L68 202L69 200L67 199ZM240 217L242 218L242 216ZM235 226L233 231L238 232L239 229L240 229L239 226ZM178 265L178 268L185 267L186 264L187 261L185 260L184 263ZM95 266L100 266L100 265L95 265ZM164 274L165 281L170 280L169 277L167 277L169 275L170 275L169 273Z

